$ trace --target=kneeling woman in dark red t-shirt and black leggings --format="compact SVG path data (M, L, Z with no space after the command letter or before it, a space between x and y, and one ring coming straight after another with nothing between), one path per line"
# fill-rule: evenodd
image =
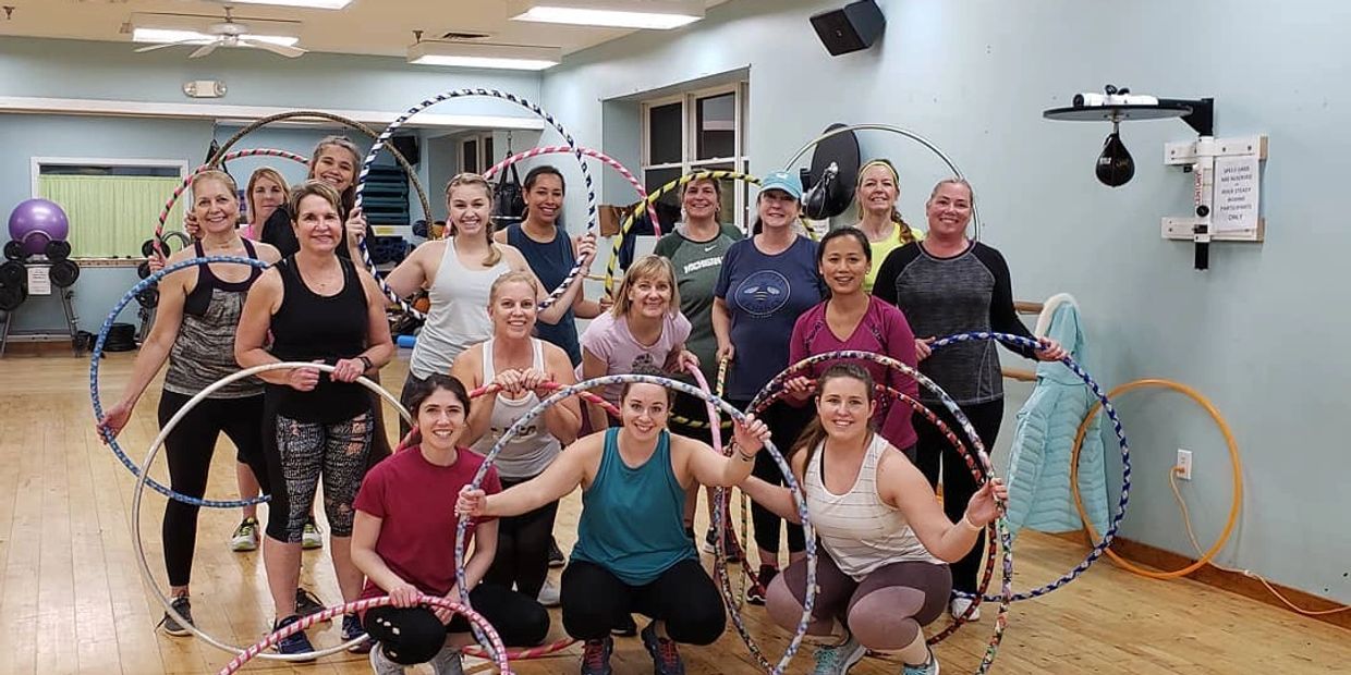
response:
M357 494L351 560L366 574L362 598L389 595L392 606L366 612L366 633L380 643L370 663L377 675L431 662L436 675L462 672L459 647L470 644L469 622L449 610L416 605L417 594L459 602L455 587L458 516L446 495L469 485L482 458L459 444L467 427L469 394L458 379L431 374L409 392L417 425L413 446L376 464ZM488 470L488 491L501 487ZM492 566L497 521L470 526L474 549L465 563L469 601L509 645L539 644L549 634L549 613L530 597L478 582Z

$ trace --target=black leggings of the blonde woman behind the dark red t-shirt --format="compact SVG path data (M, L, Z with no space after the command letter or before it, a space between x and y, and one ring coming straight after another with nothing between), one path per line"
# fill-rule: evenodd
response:
M531 478L503 478L503 490ZM528 598L538 597L549 576L549 544L557 516L558 502L549 502L520 516L497 518L497 555L484 579L504 589L516 586Z

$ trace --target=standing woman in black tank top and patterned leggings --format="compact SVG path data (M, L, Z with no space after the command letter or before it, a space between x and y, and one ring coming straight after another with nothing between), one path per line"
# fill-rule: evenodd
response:
M263 560L277 628L299 620L300 541L320 478L343 599L357 599L362 587L362 574L351 564L351 504L366 473L374 410L355 379L378 373L393 356L394 344L374 278L335 252L346 239L340 201L338 192L322 181L308 181L292 192L292 227L300 248L267 270L249 292L235 339L235 358L243 367L281 360L336 367L331 375L308 367L259 375L266 382L273 423L263 429L267 473L276 486ZM263 348L269 332L270 351ZM345 617L343 639L359 634L357 617ZM282 640L277 649L313 651L304 633Z

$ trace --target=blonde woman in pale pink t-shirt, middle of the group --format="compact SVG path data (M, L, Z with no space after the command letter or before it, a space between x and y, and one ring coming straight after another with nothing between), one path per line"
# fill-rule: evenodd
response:
M698 356L685 350L689 329L689 320L680 313L676 269L666 258L644 255L624 273L615 306L582 333L578 379L623 375L639 366L673 373L684 371L686 363L697 367ZM621 390L623 385L607 385L598 394L617 406ZM619 425L609 424L605 410L594 404L586 404L586 416L592 431Z

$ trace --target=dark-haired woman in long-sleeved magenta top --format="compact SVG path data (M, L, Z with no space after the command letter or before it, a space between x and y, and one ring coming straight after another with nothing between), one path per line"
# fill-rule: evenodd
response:
M884 302L863 290L863 279L873 265L873 248L867 235L855 227L843 227L821 239L816 250L816 267L830 294L825 301L797 317L789 342L789 363L797 363L816 354L857 350L890 356L915 367L915 333L896 305ZM865 366L874 382L917 397L919 383L881 363L847 360ZM811 379L824 373L836 360L808 367L802 375L785 382L789 400L797 405L811 398ZM893 447L913 459L915 427L911 408L892 396L880 397L881 405L873 416L880 433Z

